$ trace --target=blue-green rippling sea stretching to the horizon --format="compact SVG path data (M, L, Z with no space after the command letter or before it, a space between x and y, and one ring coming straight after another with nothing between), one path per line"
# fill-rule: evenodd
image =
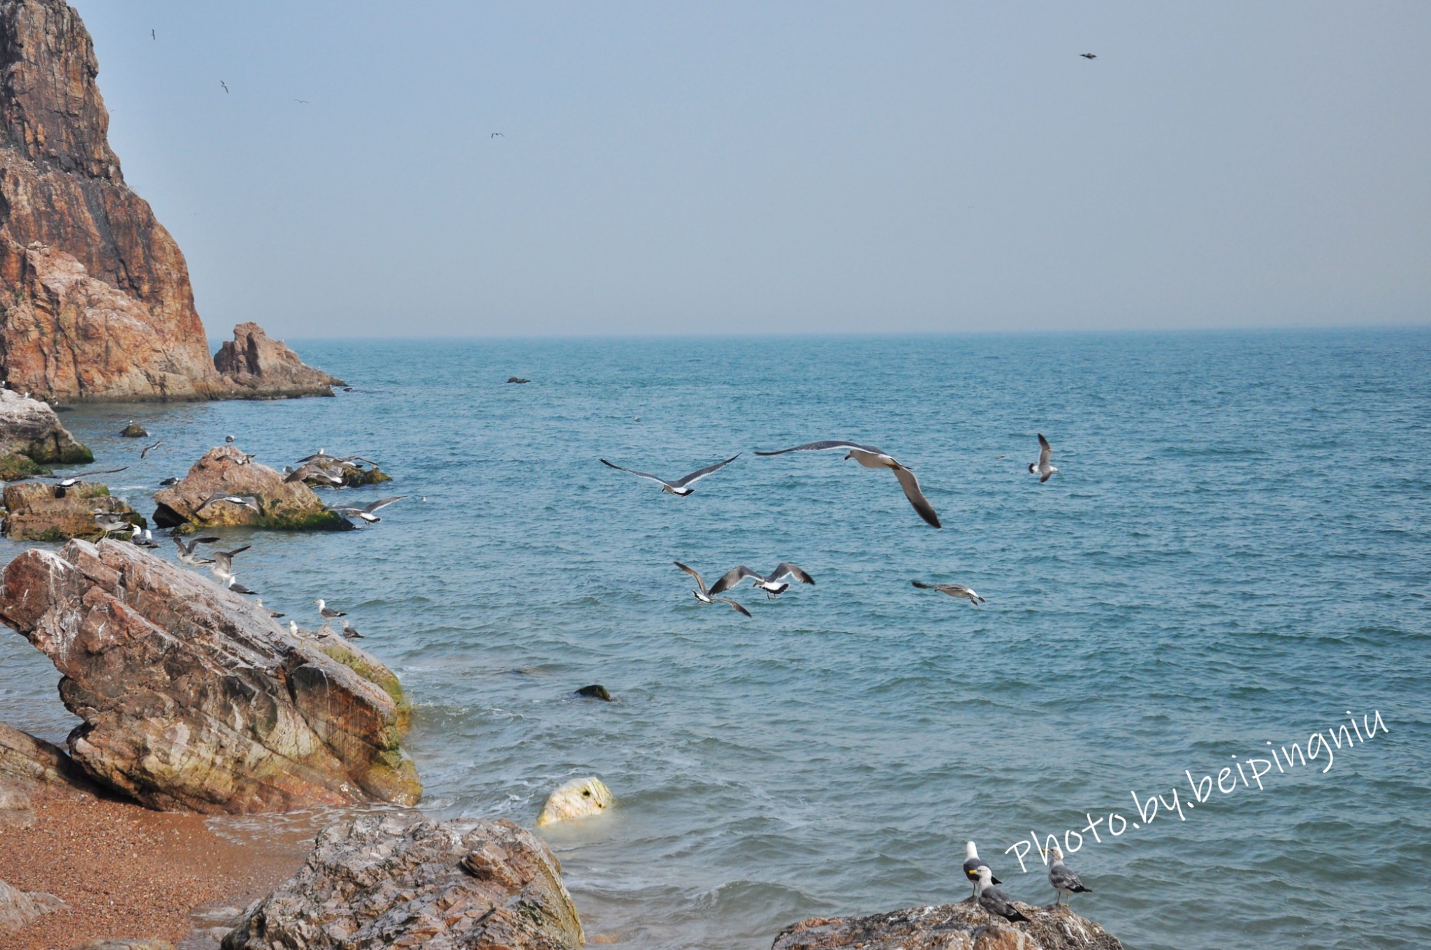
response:
M353 391L62 418L145 514L226 434L391 472L335 495L405 495L379 525L232 532L240 581L305 625L326 598L399 672L431 813L531 824L567 778L611 787L547 836L588 937L754 950L959 900L970 838L1052 903L1017 843L1070 830L1073 907L1128 947L1431 946L1431 332L296 348ZM163 439L145 461L129 419ZM753 454L827 438L917 472L943 529L843 454ZM688 498L598 462L736 452ZM817 584L744 588L747 620L673 561ZM63 740L56 681L0 637L0 720ZM594 682L615 701L572 695ZM1361 741L1309 741L1348 711ZM1319 755L1252 761L1292 743Z

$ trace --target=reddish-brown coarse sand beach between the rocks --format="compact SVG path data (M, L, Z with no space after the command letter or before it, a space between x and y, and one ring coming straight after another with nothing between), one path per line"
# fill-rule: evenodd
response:
M162 814L107 798L34 795L29 827L0 826L0 880L69 904L0 950L76 947L106 937L179 941L190 911L243 907L303 863L311 838L243 841L215 834L202 816Z

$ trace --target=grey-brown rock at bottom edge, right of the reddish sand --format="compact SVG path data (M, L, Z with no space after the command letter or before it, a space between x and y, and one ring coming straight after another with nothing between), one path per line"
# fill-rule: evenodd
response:
M509 821L369 816L323 828L303 868L223 950L571 950L585 936L547 843Z

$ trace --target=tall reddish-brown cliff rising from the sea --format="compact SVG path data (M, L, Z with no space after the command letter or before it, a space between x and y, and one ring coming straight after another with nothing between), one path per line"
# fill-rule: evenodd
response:
M318 371L279 392L215 368L183 253L109 147L97 73L64 0L0 0L0 375L66 399L331 395Z

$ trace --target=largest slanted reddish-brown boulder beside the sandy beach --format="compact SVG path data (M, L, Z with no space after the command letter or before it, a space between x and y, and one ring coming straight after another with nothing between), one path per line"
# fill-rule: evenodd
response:
M375 657L349 647L361 662L345 665L127 542L30 548L3 582L0 622L63 674L60 700L84 720L70 755L99 784L206 814L421 797L396 677Z

